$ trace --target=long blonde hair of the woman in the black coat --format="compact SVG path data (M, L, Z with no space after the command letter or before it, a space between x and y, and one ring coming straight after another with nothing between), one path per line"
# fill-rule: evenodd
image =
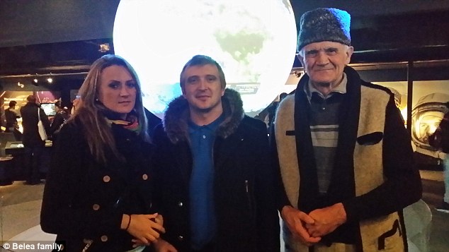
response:
M78 93L81 96L81 102L79 102L79 107L76 108L74 116L71 117L71 121L77 119L81 122L91 154L98 162L103 164L106 164L106 150L112 151L115 156L122 159L122 155L120 155L115 147L115 140L110 131L110 126L103 114L106 107L101 102L98 102L97 99L99 85L101 83L101 73L108 66L123 66L127 68L137 83L134 111L142 129L139 133L140 138L149 142L147 116L145 116L142 102L142 88L134 68L120 56L113 54L104 55L93 62L89 73L87 73L87 77Z

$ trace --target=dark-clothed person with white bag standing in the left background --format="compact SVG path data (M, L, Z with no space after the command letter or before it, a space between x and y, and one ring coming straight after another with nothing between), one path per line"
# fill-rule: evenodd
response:
M45 128L47 135L50 131L50 121L38 104L36 97L28 95L27 103L21 107L23 136L22 142L25 147L25 167L27 168L26 184L42 184L40 180L40 164L42 162L42 152L45 148L45 140L39 135L38 121L39 117ZM39 111L39 112L38 112Z

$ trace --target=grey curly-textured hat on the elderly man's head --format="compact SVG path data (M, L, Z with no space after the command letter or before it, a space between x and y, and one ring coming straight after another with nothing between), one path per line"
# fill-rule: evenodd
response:
M307 44L322 41L351 45L350 25L351 15L338 8L316 8L307 11L301 16L297 51Z

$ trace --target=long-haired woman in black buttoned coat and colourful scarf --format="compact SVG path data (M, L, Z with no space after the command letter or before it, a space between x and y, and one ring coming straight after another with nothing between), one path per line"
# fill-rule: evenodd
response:
M55 145L42 230L67 251L142 251L164 228L160 215L149 214L154 149L137 75L119 56L102 56L79 95Z

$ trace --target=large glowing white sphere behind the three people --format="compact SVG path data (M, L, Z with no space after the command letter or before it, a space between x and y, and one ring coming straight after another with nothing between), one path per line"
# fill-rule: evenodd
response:
M135 68L144 106L159 117L181 95L179 74L195 54L222 66L255 116L285 85L297 35L288 0L122 0L113 32L115 54Z

